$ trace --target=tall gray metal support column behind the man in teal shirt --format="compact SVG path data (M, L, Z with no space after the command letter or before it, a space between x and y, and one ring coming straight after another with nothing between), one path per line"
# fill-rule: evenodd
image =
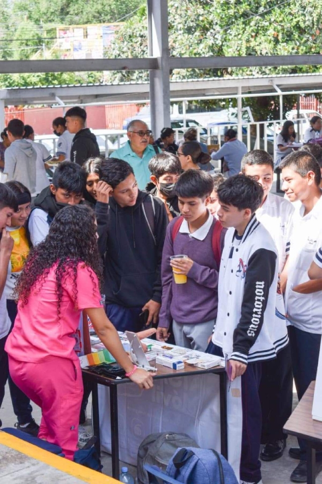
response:
M147 0L148 55L157 58L157 69L149 71L151 129L154 137L170 127L170 70L168 0Z

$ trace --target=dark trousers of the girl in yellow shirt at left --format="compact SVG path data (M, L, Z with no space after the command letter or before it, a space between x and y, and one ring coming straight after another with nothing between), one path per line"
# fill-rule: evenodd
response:
M7 310L12 323L11 328L13 328L15 319L17 316L17 312L18 312L16 302L12 301L11 299L7 299ZM14 408L15 415L17 416L18 424L19 425L29 424L29 422L32 421L32 414L31 414L32 406L30 405L30 399L13 382L9 374L9 368L8 368L8 376L7 378L9 383L12 406Z

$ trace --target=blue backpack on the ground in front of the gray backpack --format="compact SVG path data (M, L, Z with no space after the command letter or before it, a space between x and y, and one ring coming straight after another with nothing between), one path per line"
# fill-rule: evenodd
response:
M168 464L167 474L186 484L238 484L230 464L212 449L178 449Z

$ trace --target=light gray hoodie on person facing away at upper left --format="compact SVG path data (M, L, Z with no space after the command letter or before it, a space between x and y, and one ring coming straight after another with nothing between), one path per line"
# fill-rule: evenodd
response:
M4 173L8 181L23 183L33 194L36 191L37 153L27 140L15 140L5 151Z

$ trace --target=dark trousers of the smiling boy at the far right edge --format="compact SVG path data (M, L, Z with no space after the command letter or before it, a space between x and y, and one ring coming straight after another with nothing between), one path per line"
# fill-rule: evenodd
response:
M288 326L288 337L296 392L300 400L311 381L316 379L321 335ZM306 460L306 442L298 439L298 445L301 449L301 460ZM322 446L316 451L316 460L322 460Z

